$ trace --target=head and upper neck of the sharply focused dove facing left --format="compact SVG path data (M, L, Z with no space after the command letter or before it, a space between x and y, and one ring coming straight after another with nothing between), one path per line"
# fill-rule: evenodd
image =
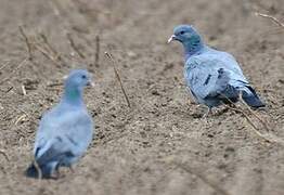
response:
M179 25L173 29L173 35L168 39L179 41L183 44L185 53L192 54L203 48L202 37L198 31L190 25Z

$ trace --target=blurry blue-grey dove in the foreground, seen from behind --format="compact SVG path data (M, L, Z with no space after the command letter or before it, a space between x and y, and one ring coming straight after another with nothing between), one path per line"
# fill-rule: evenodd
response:
M91 84L85 69L72 70L60 103L43 114L34 147L35 161L26 176L55 178L60 167L69 167L86 153L92 141L93 121L83 103L83 88ZM38 166L38 168L36 168Z

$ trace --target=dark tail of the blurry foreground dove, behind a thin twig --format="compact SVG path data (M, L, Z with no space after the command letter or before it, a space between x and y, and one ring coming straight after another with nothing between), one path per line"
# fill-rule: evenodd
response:
M30 164L25 171L25 176L28 178L50 178L52 173L52 168L50 166L40 166L38 169L35 164Z

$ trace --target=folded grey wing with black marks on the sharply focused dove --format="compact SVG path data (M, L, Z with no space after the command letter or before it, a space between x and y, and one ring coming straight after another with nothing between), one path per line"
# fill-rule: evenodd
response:
M248 84L242 70L230 67L230 62L215 54L202 54L191 57L185 65L186 84L198 99L224 94L235 95L235 90Z

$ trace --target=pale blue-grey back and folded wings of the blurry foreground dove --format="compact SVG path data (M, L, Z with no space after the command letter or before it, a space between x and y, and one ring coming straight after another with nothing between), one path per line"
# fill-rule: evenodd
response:
M37 133L34 154L39 164L80 157L92 140L92 120L87 112L46 115Z

